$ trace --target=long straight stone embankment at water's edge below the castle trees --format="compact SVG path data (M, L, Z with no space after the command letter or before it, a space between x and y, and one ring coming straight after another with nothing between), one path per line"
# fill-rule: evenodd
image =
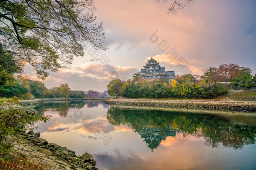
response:
M103 103L121 106L147 106L165 108L200 108L222 111L256 112L256 102L223 102L202 100L143 100L143 99L108 99Z

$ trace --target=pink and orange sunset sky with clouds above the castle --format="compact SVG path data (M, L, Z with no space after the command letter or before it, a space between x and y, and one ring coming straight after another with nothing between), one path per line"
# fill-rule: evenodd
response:
M182 0L181 0L182 1ZM87 45L83 57L37 79L47 88L68 83L71 90L103 92L111 80L127 80L153 57L166 71L202 75L203 67L237 63L256 74L256 1L196 0L168 15L173 0L95 0L107 51Z

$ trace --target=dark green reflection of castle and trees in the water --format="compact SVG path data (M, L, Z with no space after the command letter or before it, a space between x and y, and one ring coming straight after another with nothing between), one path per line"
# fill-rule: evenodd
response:
M147 146L153 151L168 136L182 133L183 137L193 135L204 137L205 145L241 149L244 145L255 143L256 127L234 121L224 115L195 114L178 111L138 110L112 106L107 119L112 124L127 124L144 138ZM244 118L246 119L246 118ZM247 117L247 119L252 119ZM255 122L254 120L249 122ZM244 120L244 122L246 122Z

